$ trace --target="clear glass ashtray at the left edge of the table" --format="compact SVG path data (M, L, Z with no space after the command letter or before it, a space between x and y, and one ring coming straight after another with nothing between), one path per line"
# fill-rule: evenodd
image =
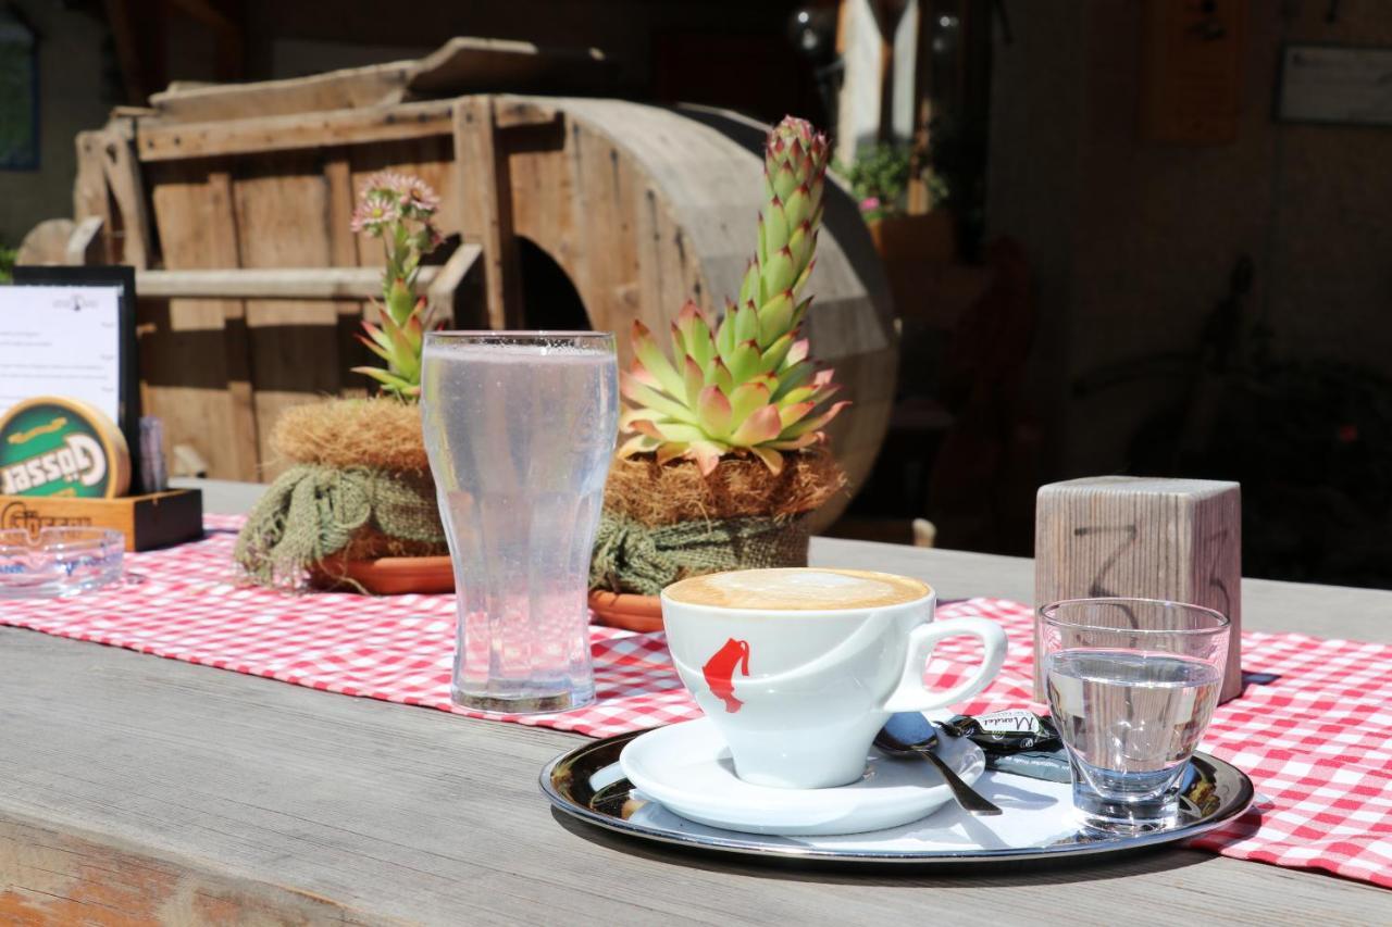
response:
M0 599L74 596L121 578L125 536L104 528L0 530Z

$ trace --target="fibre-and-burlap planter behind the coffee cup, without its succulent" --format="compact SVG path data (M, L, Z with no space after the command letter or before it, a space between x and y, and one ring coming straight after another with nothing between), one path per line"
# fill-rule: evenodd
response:
M807 565L807 515L845 486L824 450L785 457L774 476L757 459L695 464L615 459L590 560L590 607L606 624L654 631L664 586L727 569Z

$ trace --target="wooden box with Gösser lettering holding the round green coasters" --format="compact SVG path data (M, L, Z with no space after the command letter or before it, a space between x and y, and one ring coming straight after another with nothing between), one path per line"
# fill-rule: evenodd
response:
M113 528L125 550L168 547L203 536L203 493L168 490L118 498L0 496L0 529Z

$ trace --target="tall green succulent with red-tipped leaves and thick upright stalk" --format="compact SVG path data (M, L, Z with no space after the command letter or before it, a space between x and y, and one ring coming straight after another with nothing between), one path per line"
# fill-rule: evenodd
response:
M675 363L633 322L619 426L635 434L621 457L685 458L709 475L725 455L752 454L780 473L784 451L825 440L823 426L848 402L818 411L839 386L798 335L812 303L802 291L816 263L827 157L827 138L805 120L786 117L768 132L759 249L739 301L727 302L718 326L688 301L672 323Z

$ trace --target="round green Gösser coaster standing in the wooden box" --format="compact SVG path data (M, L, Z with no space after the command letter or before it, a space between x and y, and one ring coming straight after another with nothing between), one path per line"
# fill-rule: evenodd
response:
M102 412L40 397L0 416L0 494L111 498L131 479L125 438Z

